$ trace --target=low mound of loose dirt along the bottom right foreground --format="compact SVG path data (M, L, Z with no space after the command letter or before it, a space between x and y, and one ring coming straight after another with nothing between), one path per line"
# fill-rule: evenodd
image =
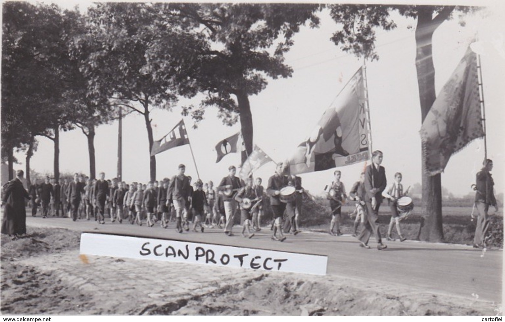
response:
M345 283L345 284L344 284ZM489 303L409 290L375 292L330 278L293 279L265 274L212 293L150 307L170 315L486 315ZM359 283L358 283L359 284Z

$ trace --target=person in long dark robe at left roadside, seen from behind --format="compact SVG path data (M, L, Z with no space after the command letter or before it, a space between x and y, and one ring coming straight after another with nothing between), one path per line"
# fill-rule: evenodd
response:
M13 239L26 234L25 198L30 199L21 181L23 170L18 170L16 174L17 177L4 186L2 193L2 205L5 205L2 234L13 236Z

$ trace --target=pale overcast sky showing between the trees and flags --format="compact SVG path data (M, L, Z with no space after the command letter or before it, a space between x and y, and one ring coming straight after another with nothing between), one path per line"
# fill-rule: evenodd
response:
M73 6L70 3L66 6ZM87 7L81 3L81 10ZM259 95L249 98L253 124L254 143L273 160L289 157L295 147L310 134L325 109L335 99L342 86L362 66L362 61L341 52L329 39L337 29L327 11L320 13L319 28L304 27L294 37L294 46L285 55L286 63L294 70L287 79L268 79L268 86ZM433 61L437 93L463 57L470 40L478 32L482 43L482 74L487 117L488 158L494 160L493 177L496 193L503 192L505 174L504 130L505 102L505 47L503 7L492 8L462 18L458 16L444 22L433 36ZM403 173L405 185L421 182L421 111L415 68L415 21L395 16L398 27L392 31L377 32L378 61L367 62L370 117L373 149L384 152L383 166L387 180L397 171ZM412 28L410 28L412 27ZM180 105L198 105L198 98L181 100ZM179 107L173 111L153 108L155 140L161 137L182 118ZM238 154L230 154L216 164L215 145L236 133L240 125L227 127L217 119L215 108L209 108L198 129L193 121L184 118L196 158L200 177L204 181L219 182L227 174L230 164L239 163ZM97 128L95 136L96 170L105 171L107 178L116 176L117 122ZM53 171L53 142L37 137L38 150L31 164L41 173ZM463 151L451 157L442 174L442 186L455 195L471 192L475 173L484 157L484 141L475 140ZM23 154L16 154L24 161ZM60 134L60 171L89 173L86 137L80 129ZM169 177L177 172L177 165L185 163L186 173L196 177L188 146L178 147L157 155L157 178ZM347 190L359 178L364 163L342 167L342 180ZM15 168L24 167L24 164ZM257 175L266 180L274 172L273 163L265 165ZM302 174L306 189L314 194L322 192L332 179L332 170ZM145 182L149 179L149 154L147 132L143 117L131 114L123 121L123 178Z

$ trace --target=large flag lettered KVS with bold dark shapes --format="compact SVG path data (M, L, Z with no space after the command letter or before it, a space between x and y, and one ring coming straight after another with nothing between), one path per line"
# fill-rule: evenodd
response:
M322 171L366 161L367 123L363 68L360 68L288 160L290 173Z

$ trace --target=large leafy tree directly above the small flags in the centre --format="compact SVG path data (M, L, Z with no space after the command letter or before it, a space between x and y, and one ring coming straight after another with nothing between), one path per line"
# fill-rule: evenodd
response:
M219 108L223 123L240 120L248 154L252 152L251 95L267 86L267 77L292 75L284 54L300 26L319 24L321 7L312 4L171 4L168 17L177 17L196 37L207 42L198 53L195 79L206 98L198 108L184 109L195 121L208 106ZM166 18L168 19L168 18ZM162 57L158 55L157 57ZM242 160L244 161L244 160Z

